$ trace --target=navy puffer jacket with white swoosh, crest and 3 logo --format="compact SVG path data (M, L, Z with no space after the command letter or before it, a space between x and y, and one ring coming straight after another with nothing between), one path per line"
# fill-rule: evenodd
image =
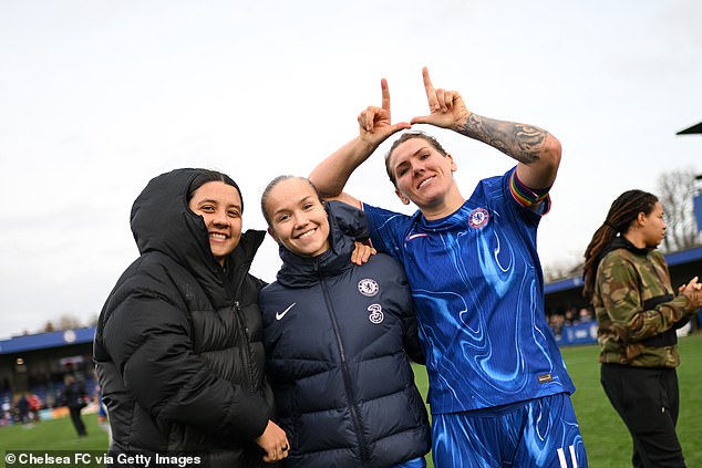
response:
M431 447L405 354L423 361L412 299L389 256L351 263L353 240L340 235L334 217L352 208L328 207L331 250L301 258L281 248L278 281L259 294L277 422L291 445L283 462L386 468Z

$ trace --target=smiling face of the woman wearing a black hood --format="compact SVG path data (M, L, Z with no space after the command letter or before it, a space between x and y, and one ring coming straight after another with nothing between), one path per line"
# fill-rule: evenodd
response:
M239 245L241 238L241 197L223 181L203 184L188 202L190 210L205 220L209 247L219 264Z

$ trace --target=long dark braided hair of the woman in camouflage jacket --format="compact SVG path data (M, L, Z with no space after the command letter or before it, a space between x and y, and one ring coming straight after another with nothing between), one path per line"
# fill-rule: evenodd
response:
M597 275L597 267L601 260L601 253L605 248L619 233L629 230L629 226L633 222L640 212L649 216L653 211L658 198L655 195L642 190L628 190L621 194L612 202L609 208L607 218L602 226L595 231L590 245L585 250L585 264L582 266L582 279L585 288L582 295L587 299L592 298L595 290L595 277Z

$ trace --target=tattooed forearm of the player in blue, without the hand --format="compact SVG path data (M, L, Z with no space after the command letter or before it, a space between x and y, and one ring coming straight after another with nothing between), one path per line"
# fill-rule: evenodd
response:
M541 128L471 114L461 133L499 149L523 164L540 158L548 133Z

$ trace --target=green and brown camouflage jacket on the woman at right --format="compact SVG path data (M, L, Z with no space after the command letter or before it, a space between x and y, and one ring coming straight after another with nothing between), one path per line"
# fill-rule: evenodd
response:
M606 250L597 269L592 305L598 321L600 363L677 367L675 330L695 312L674 295L658 250L638 249L622 237Z

